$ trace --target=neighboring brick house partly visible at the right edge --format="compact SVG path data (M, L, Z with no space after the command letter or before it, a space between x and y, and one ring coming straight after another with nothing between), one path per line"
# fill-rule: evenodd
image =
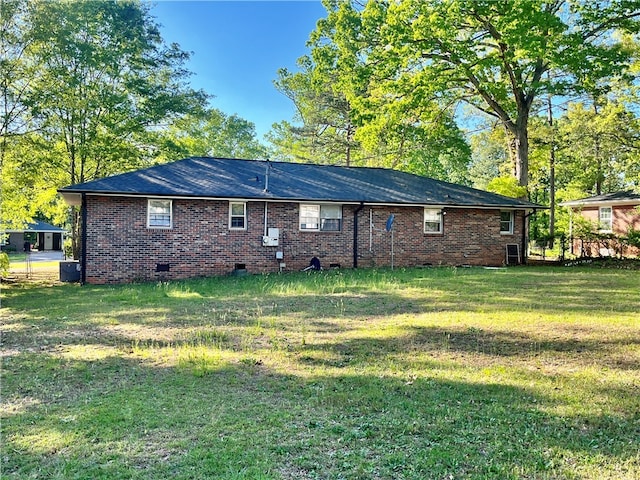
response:
M575 215L591 222L594 229L602 234L624 237L631 229L640 230L640 193L633 191L606 193L593 197L571 200L560 204L568 207L571 213L571 232L573 253L580 256L612 255L610 248L598 242L585 242L577 237L573 228ZM627 255L640 255L640 250L627 247Z

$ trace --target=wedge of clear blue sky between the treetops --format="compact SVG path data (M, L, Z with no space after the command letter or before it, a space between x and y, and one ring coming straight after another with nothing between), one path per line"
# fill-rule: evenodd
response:
M212 106L256 125L258 137L291 120L292 102L273 86L279 68L296 68L326 16L319 0L157 1L151 14L167 43L192 52L191 85L215 95Z

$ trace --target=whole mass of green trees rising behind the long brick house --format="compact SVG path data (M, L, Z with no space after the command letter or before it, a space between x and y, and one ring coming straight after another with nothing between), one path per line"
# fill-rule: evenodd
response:
M277 72L297 114L268 151L190 86L147 3L0 0L0 226L77 231L57 188L192 155L388 167L552 208L640 185L637 0L324 5Z

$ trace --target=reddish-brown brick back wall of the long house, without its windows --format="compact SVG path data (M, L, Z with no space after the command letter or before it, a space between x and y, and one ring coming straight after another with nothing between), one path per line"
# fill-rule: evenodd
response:
M340 232L298 228L297 203L269 203L267 227L280 229L277 247L262 246L264 202L247 203L247 229L229 230L227 201L173 200L173 228L147 228L147 199L87 196L88 283L180 279L231 273L244 264L249 273L300 270L311 257L322 266L353 267L353 221L357 206L343 207ZM384 227L395 215L395 266L502 265L506 244L522 244L522 215L513 235L500 234L500 212L446 209L442 234L423 233L421 207L369 207L358 213L358 267L391 264L391 234ZM276 259L283 253L283 260ZM169 271L156 271L158 264Z

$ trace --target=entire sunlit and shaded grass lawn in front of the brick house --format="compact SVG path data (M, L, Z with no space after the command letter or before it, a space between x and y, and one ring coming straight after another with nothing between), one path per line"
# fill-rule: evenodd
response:
M2 476L640 478L639 271L328 271L2 299Z

